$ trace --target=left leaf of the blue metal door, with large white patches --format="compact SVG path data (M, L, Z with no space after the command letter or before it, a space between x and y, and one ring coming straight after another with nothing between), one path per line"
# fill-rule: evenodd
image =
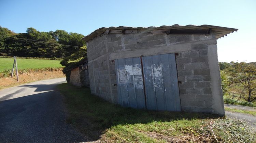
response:
M115 69L119 104L145 109L140 58L117 59Z

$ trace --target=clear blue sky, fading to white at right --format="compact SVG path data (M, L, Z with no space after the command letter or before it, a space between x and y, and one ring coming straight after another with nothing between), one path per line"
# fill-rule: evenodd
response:
M16 33L174 24L237 28L217 40L219 62L256 62L256 0L0 0L0 26Z

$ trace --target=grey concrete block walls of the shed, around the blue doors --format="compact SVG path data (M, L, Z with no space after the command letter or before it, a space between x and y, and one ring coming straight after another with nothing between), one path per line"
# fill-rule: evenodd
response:
M216 44L214 32L97 37L87 42L91 92L117 103L115 59L176 53L182 110L224 114Z

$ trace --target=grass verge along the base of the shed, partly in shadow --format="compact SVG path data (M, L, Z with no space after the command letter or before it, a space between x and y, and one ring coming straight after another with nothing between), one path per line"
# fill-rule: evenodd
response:
M88 88L59 84L69 112L67 123L102 142L255 142L242 120L211 114L123 108L90 94Z

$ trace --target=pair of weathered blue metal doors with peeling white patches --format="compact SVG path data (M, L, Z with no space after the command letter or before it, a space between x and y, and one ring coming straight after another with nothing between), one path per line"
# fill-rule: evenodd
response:
M146 56L142 60L139 57L117 59L115 69L120 105L149 110L181 111L173 53Z

